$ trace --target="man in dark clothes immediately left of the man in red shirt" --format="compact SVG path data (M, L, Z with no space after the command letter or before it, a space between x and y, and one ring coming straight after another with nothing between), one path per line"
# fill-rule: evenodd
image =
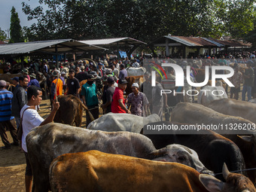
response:
M103 93L103 95L104 95L104 96L102 96L103 104L101 106L103 108L103 110L105 109L105 114L111 112L111 102L112 102L112 98L113 98L114 90L115 90L114 78L110 76L110 77L108 77L107 81L108 81L108 85L107 85L108 88L107 88L105 94Z

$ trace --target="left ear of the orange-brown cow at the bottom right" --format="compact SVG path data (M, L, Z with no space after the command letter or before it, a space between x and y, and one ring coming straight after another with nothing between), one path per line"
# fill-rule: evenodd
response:
M210 192L221 191L224 186L224 182L218 180L212 175L200 174L199 180Z

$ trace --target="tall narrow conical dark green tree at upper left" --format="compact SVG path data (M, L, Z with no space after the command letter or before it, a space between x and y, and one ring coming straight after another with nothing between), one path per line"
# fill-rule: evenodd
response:
M15 8L11 8L10 43L23 42L23 32L20 26L20 19Z

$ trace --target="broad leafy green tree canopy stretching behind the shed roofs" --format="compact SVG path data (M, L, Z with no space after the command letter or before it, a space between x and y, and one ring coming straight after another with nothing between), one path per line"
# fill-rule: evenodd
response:
M29 41L56 38L131 37L150 42L163 35L239 38L254 27L251 0L39 0L48 6L23 12L37 23ZM133 50L127 47L127 50Z

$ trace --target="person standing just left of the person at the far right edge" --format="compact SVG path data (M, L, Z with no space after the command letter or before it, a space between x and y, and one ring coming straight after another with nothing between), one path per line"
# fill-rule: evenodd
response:
M230 82L235 87L230 87L230 99L238 99L240 92L240 84L242 84L242 73L239 72L239 66L236 65L234 75L230 78Z

